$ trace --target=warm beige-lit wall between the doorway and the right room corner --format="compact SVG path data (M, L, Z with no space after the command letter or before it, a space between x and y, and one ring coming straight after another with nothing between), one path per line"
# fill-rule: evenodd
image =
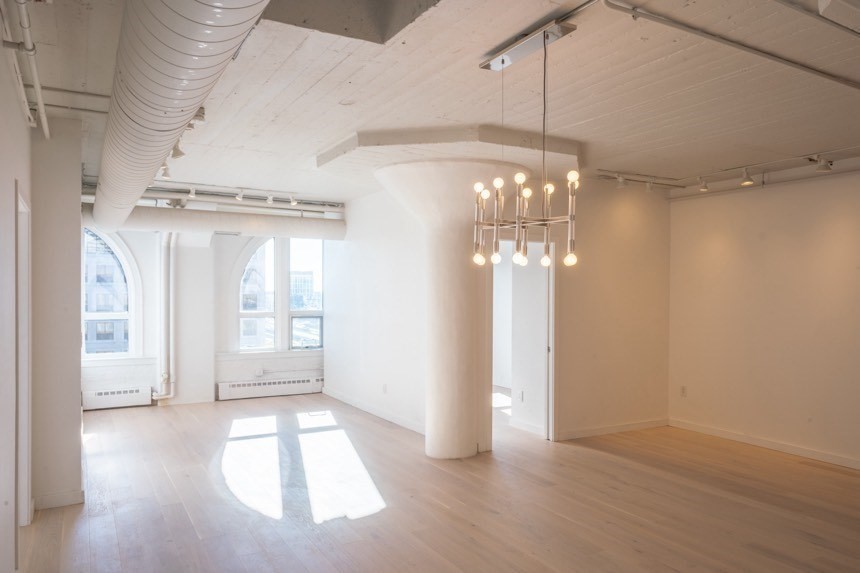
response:
M556 437L664 425L668 203L642 185L586 180L576 207L579 262L555 272Z

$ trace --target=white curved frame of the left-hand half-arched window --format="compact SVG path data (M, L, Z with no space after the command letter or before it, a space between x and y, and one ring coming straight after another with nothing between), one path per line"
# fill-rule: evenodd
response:
M86 276L86 258L88 255L95 254L95 252L90 252L86 249L86 231L90 231L96 237L101 239L105 245L113 252L114 256L119 261L120 266L122 267L123 274L125 275L125 283L126 289L128 291L128 310L124 312L97 312L92 311L88 312L86 310L87 303L87 292L86 285L84 283L84 277ZM140 292L141 292L141 284L140 284L140 275L138 273L137 265L135 264L134 258L131 255L130 250L126 246L125 242L116 234L113 233L103 233L96 229L90 227L81 226L81 276L80 276L80 285L81 285L81 320L80 320L80 332L81 332L81 360L91 362L98 360L113 360L116 358L129 358L140 356L140 344L142 340L142 324L139 319L141 316L140 313ZM96 301L97 304L97 301ZM88 320L94 320L97 322L110 322L116 320L127 320L128 321L128 350L125 352L93 352L88 353L86 351L86 322ZM114 328L114 333L116 333L116 328Z

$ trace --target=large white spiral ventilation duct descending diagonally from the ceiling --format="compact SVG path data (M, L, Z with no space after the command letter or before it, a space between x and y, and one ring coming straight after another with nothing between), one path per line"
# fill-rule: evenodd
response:
M268 0L128 0L93 210L116 230Z

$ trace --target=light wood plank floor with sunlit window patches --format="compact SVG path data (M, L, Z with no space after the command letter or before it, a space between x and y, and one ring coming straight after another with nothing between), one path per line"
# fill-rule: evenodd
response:
M36 514L27 573L860 571L860 472L675 428L502 426L494 452L436 461L313 395L87 412L84 432L87 503ZM317 523L341 505L359 513Z

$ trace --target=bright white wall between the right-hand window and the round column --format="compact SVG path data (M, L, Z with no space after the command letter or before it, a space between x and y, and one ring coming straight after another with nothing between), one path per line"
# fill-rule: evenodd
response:
M326 243L325 393L424 430L425 276L418 222L386 192L351 201Z

